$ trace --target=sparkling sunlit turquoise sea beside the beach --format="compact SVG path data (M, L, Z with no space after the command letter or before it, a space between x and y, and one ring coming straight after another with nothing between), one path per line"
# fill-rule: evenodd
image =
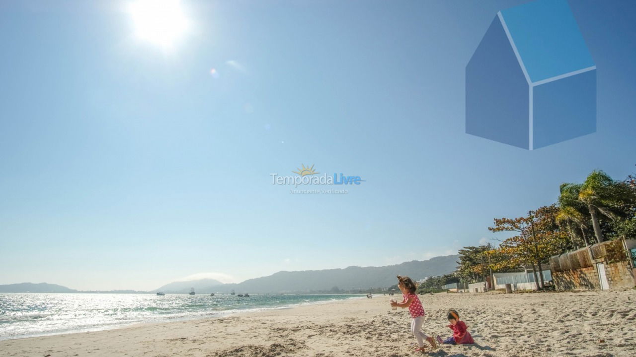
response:
M0 340L357 299L360 295L0 293Z

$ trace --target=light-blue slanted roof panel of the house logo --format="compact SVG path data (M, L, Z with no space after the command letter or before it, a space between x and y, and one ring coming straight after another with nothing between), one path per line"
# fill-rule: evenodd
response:
M567 1L536 0L499 15L530 82L594 66Z

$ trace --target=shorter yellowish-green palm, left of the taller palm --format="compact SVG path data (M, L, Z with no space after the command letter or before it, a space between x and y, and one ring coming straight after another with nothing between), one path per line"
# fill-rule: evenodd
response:
M570 239L575 248L578 247L576 237L581 236L585 246L588 246L588 215L587 207L579 201L579 193L581 192L581 184L561 184L559 187L560 195L558 197L559 212L556 215L556 222L565 222L570 233ZM578 227L578 230L574 227Z

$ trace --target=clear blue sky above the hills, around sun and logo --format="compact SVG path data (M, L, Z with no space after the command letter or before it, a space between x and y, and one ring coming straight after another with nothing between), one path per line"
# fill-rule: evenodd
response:
M498 238L495 217L563 182L636 172L630 2L570 1L597 132L534 151L464 131L466 64L525 1L182 0L170 41L142 36L130 2L0 3L0 284L424 260ZM364 181L272 184L301 165Z

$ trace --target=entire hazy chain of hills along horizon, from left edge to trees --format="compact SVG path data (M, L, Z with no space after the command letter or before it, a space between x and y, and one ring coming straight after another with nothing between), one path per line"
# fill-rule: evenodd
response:
M0 293L357 293L370 288L381 289L396 284L396 276L407 275L414 280L429 276L441 276L455 271L459 255L434 257L429 260L412 260L402 264L382 267L350 266L345 269L308 271L279 271L270 276L245 280L242 283L223 284L214 279L174 281L160 288L137 290L82 291L48 283L18 283L0 285Z

